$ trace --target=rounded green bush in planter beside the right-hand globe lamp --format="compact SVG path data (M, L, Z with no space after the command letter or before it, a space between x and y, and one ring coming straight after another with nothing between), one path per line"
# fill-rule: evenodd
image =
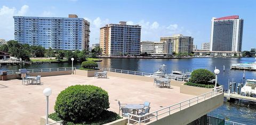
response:
M209 83L215 76L212 72L206 69L196 69L191 73L190 81L198 84L213 84Z

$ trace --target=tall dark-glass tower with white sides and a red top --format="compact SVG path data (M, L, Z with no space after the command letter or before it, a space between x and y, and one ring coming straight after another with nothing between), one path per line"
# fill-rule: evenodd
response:
M213 17L210 51L242 51L243 25L238 15Z

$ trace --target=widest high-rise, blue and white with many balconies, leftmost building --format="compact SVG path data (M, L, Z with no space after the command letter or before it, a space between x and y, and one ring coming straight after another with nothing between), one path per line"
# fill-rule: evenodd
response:
M89 49L90 23L75 14L69 17L13 16L14 39L46 49Z

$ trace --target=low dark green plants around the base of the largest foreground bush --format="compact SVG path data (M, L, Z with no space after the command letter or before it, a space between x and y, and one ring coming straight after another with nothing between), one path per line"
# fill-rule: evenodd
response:
M59 118L57 113L52 113L49 115L49 118L54 120L54 121L60 121L61 118ZM99 118L96 118L94 120L90 120L90 121L84 121L81 123L74 123L71 121L65 121L63 120L63 124L66 125L89 125L89 124L93 124L93 125L100 125L100 124L106 124L118 119L122 119L122 117L120 117L117 113L112 112L112 111L108 111L108 110L104 110L101 115L99 116Z

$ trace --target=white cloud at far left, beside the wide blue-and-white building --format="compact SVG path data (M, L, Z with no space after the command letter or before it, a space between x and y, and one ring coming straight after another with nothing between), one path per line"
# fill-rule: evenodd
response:
M23 5L20 10L15 7L2 6L0 8L0 39L14 39L14 15L23 16L28 12L29 6Z

